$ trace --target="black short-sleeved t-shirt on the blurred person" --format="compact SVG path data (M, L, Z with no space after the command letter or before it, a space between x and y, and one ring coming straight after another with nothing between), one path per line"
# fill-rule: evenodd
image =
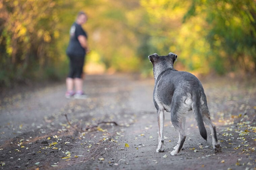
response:
M83 35L87 39L87 34L83 30L82 26L74 22L70 28L70 40L68 48L66 50L67 55L69 56L85 56L85 49L79 43L77 37Z

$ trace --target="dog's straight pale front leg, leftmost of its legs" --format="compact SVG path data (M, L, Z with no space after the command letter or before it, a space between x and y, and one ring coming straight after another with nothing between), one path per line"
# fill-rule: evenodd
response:
M157 110L158 147L156 152L164 152L164 110Z

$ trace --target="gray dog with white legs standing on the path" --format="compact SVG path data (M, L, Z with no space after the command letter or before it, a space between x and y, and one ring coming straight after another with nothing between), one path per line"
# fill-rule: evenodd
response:
M177 155L186 138L185 124L188 111L193 110L201 136L206 140L207 133L203 122L211 129L212 144L216 152L221 151L215 125L210 119L206 96L200 81L191 73L173 69L177 55L169 53L167 56L152 54L149 60L153 64L155 88L153 101L157 109L158 147L156 152L164 152L164 110L171 113L171 122L179 132L177 146L171 155Z

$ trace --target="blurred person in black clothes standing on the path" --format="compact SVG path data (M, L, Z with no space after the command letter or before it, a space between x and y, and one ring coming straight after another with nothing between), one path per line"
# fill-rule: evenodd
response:
M70 28L70 40L66 50L70 60L69 73L66 78L67 92L65 93L65 97L68 99L72 96L77 99L86 98L83 91L83 67L85 56L88 52L88 44L87 33L82 28L82 24L86 23L86 21L86 13L79 12Z

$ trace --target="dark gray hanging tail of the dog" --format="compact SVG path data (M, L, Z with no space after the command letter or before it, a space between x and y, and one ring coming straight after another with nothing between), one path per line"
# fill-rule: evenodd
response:
M203 124L203 117L202 117L202 111L201 111L201 102L200 102L200 92L194 92L192 94L192 110L195 115L195 119L197 122L197 126L199 128L199 132L201 136L207 140L207 132Z

